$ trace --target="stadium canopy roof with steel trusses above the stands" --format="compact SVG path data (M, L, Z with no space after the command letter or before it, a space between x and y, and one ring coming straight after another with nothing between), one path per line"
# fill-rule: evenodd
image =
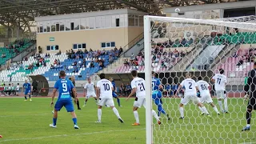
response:
M0 25L29 31L34 18L98 10L134 9L162 15L162 8L245 0L1 0Z

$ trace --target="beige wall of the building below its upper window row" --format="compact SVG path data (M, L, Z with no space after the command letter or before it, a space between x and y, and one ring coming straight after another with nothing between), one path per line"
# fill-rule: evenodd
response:
M46 46L58 45L59 50L66 52L73 44L86 43L86 49L101 50L101 42L115 42L115 46L126 46L143 31L143 27L120 27L98 30L78 30L58 33L37 34L37 46L42 47L42 53L56 53L58 50L46 50ZM54 41L50 41L54 38ZM114 47L113 47L114 48ZM106 48L111 50L113 48ZM102 49L103 50L103 49Z

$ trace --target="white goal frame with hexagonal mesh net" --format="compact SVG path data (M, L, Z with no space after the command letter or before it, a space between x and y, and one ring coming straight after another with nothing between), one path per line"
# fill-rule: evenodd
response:
M242 132L247 106L243 86L256 62L255 19L255 16L211 20L144 17L147 144L256 142L255 113L252 113L251 130ZM223 111L211 82L219 69L225 71L227 79L227 108L222 101ZM154 98L151 97L152 71L163 86ZM180 119L179 104L184 88L177 90L188 72L195 82L200 76L209 83L210 96L220 115L206 102L203 105L211 118L201 115L198 106L189 102L183 106L184 118ZM152 109L157 113L161 110L161 125L152 118ZM228 113L223 113L224 110ZM170 115L170 120L165 113Z

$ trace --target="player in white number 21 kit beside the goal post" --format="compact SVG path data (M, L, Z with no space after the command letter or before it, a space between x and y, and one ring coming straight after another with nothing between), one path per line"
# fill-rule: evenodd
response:
M134 110L134 118L135 118L136 122L132 125L139 126L140 123L139 123L137 110L141 106L144 106L146 108L145 80L143 78L138 78L138 72L136 70L132 70L131 75L133 77L133 80L130 82L132 90L131 90L131 93L128 96L128 98L126 98L126 101L128 101L131 96L136 94L136 98L134 101L134 109L133 109ZM157 120L158 124L160 125L161 121L158 118L158 114L154 110L152 110L152 114L153 114L154 118Z

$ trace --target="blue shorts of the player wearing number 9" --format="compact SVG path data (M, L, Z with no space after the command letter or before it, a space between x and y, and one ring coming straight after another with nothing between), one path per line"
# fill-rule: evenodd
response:
M73 112L74 111L74 105L72 102L72 99L68 98L66 100L58 100L55 103L54 109L57 111L62 110L62 107L65 106L67 112Z

